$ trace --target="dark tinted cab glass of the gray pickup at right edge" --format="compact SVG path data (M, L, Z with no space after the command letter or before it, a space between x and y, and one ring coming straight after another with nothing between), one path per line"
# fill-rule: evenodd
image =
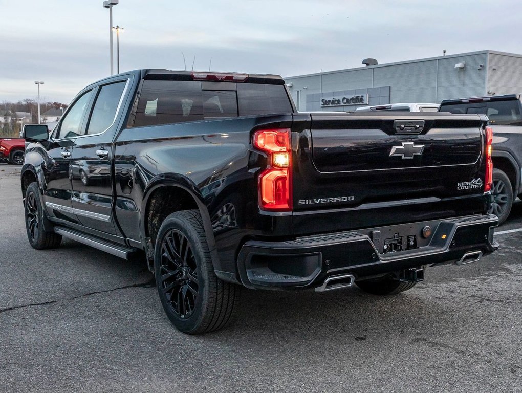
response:
M518 100L445 104L439 111L487 115L492 125L522 125Z

